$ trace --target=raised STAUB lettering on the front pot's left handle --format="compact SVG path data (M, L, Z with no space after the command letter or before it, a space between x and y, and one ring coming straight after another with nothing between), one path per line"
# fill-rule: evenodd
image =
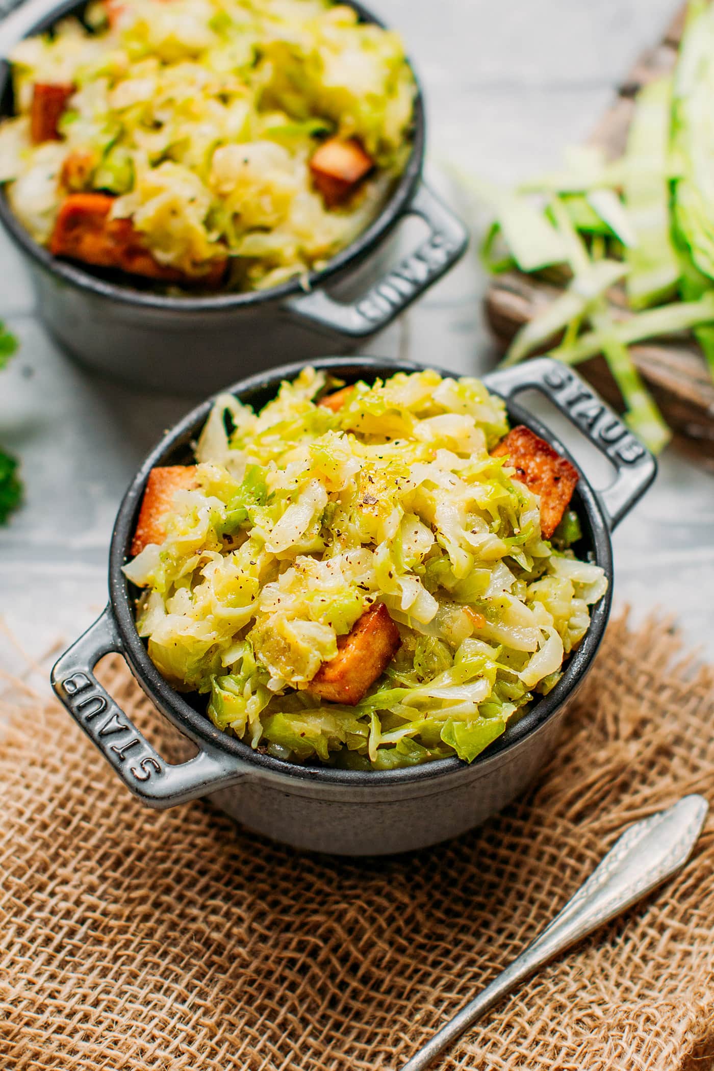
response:
M61 688L77 720L82 723L87 733L102 748L110 761L124 763L131 752L141 748L146 750L146 742L138 736L131 736L135 731L133 726L122 720L119 709L110 709L105 696L98 692L96 682L87 674L72 674L61 682ZM100 714L107 716L100 719ZM107 737L116 737L119 734L128 734L131 738L111 742L107 740ZM136 759L137 756L132 754L131 757ZM163 770L161 763L153 755L142 755L136 766L130 767L130 773L136 781L148 781L152 775L163 773Z

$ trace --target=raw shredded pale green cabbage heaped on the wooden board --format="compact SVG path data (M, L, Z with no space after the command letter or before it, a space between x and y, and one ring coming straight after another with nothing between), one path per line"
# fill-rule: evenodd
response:
M464 177L495 217L486 267L566 284L534 306L505 363L602 353L625 420L655 453L671 431L631 347L692 332L714 378L713 96L714 5L688 0L674 70L638 90L621 156L576 147L515 192Z

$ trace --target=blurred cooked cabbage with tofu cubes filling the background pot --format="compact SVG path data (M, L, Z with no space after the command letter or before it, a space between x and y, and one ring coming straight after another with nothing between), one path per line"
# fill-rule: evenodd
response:
M331 0L98 0L11 64L14 214L55 256L133 284L305 281L411 151L399 36Z

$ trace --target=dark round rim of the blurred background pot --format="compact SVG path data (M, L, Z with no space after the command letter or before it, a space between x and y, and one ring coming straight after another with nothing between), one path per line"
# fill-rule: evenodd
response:
M350 7L353 7L361 21L373 22L376 26L384 27L384 22L368 11L359 0L344 0ZM88 0L63 0L58 3L52 12L37 19L27 31L25 36L32 36L36 33L44 33L51 29L59 19L66 15L76 14L87 7ZM389 200L382 208L379 215L362 231L358 238L340 250L330 260L321 271L313 271L307 274L308 289L314 290L330 280L334 280L345 269L355 267L364 260L394 229L401 216L405 214L409 203L416 192L424 166L424 147L426 138L426 120L424 114L424 100L422 87L417 78L414 66L407 57L407 63L412 72L415 85L414 112L412 127L412 150L407 165L401 174ZM5 118L6 100L12 96L10 88L10 64L6 60L0 60L0 119ZM279 286L271 287L267 290L248 290L241 293L218 293L203 297L172 297L162 293L152 293L132 289L131 286L107 282L100 275L94 275L90 271L85 271L71 261L62 261L54 257L49 250L40 245L25 229L19 220L14 215L4 185L0 184L0 221L4 224L11 238L15 243L35 260L41 268L59 276L63 282L78 287L80 290L89 291L97 297L116 301L127 305L138 305L145 308L159 308L171 313L194 313L213 310L243 308L244 306L256 306L271 301L282 301L305 292L304 276L295 277L282 283Z

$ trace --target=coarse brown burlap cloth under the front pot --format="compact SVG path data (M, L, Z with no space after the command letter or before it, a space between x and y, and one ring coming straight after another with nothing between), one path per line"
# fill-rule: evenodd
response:
M613 623L530 795L381 861L301 855L202 802L145 810L58 706L6 695L1 1071L398 1068L623 827L688 791L714 798L714 678L675 649L666 625ZM125 667L104 679L161 741ZM712 830L681 875L437 1067L711 1068Z

